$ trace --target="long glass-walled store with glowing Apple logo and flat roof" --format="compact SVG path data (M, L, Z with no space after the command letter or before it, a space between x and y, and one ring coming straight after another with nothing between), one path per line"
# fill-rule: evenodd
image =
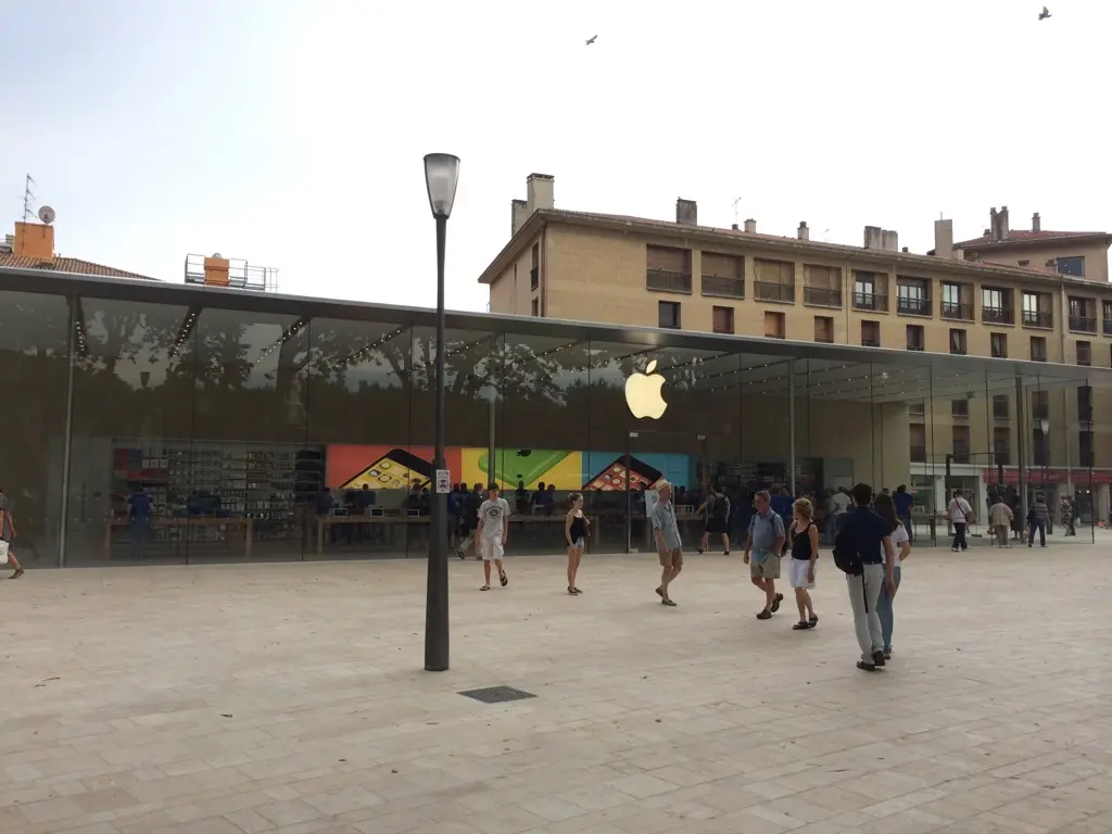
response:
M435 311L4 269L0 322L0 489L28 567L427 553ZM664 480L691 545L711 489L735 539L758 489L822 507L906 485L923 524L962 478L1030 495L1055 461L1029 404L1112 375L474 312L448 314L443 349L450 535L497 483L517 554L563 549L573 493L592 552L645 549ZM955 400L989 437L1011 403L1007 446L962 446Z

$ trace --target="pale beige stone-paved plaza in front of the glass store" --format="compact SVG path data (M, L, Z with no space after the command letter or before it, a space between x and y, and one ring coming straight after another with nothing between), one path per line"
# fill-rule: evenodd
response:
M1088 536L1088 533L1086 533ZM513 543L510 543L513 544ZM30 572L0 583L0 831L21 834L1106 834L1112 535L913 553L895 655L758 622L741 556ZM484 704L461 691L536 697Z

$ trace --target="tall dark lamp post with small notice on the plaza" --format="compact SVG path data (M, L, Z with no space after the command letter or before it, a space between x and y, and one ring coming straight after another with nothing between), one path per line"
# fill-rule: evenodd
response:
M429 153L425 157L425 185L428 205L436 220L436 449L433 468L431 530L428 536L428 586L425 593L425 671L448 669L448 513L447 495L441 492L444 458L444 247L448 217L459 182L459 157Z

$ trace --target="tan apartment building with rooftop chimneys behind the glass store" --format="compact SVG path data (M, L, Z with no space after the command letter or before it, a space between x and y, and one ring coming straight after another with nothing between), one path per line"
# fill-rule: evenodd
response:
M1112 234L1045 230L1037 214L1012 229L1003 207L979 238L954 241L943 219L934 240L921 255L873 226L861 246L812 240L806 222L793 236L758 231L755 219L714 228L686 199L674 220L557 209L553 177L534 173L527 199L512 202L509 242L479 280L493 312L1112 367ZM1112 413L1112 390L1048 389L1022 407L1035 481L1052 497L1095 499L1105 517L1112 433L1096 416ZM997 466L1012 479L1016 408L1014 395L973 390L912 404L920 486L941 489L947 456L979 494Z

